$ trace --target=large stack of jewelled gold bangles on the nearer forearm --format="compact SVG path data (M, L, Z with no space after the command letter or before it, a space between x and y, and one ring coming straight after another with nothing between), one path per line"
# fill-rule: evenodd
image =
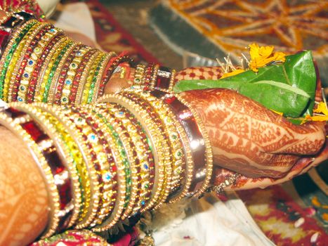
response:
M9 103L0 124L22 138L44 174L43 238L72 227L105 231L209 186L206 131L171 93L126 89L79 107Z

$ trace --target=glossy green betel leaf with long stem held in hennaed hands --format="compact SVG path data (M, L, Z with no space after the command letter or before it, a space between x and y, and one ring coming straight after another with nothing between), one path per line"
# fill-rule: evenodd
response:
M174 86L174 91L234 89L271 110L296 118L312 114L316 80L311 52L303 51L287 56L280 65L261 67L258 72L249 70L219 80L184 80Z

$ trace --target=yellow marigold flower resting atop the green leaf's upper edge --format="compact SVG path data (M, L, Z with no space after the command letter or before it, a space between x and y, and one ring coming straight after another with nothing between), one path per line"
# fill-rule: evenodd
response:
M286 60L285 53L274 52L274 46L258 46L258 44L249 45L249 54L251 55L251 61L249 68L254 72L258 72L258 67L264 67L268 63L274 61L284 62Z

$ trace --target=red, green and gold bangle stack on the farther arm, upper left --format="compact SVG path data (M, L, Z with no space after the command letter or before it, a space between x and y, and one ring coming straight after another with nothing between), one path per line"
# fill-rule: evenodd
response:
M114 70L133 61L66 37L25 12L0 24L0 98L6 102L90 104L102 96Z

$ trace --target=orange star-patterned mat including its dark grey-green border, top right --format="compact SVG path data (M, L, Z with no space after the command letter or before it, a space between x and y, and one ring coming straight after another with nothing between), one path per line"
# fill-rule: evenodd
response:
M310 49L327 84L327 11L321 0L164 0L150 20L173 47L209 58L229 53L237 62L254 41L285 53Z

